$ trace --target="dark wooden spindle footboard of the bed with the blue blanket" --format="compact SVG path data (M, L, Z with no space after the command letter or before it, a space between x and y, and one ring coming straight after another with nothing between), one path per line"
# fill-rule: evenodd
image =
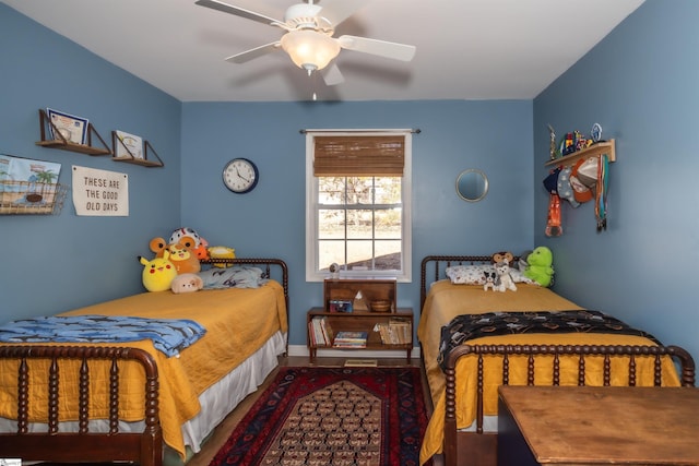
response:
M48 418L45 432L29 429L28 413L29 371L33 360L48 362L47 403ZM67 361L79 361L79 380L61 378L61 367ZM92 432L88 409L91 367L90 361L106 361L109 367L108 384L109 419L108 432ZM119 430L119 369L120 362L131 360L143 367L145 374L144 429L129 433ZM138 348L84 347L84 346L0 346L2 370L15 366L17 387L16 431L0 432L0 457L54 463L105 463L134 462L141 466L159 466L163 462L163 434L158 417L158 373L153 358ZM104 362L100 362L104 363ZM3 375L8 375L7 373ZM10 375L13 377L13 375ZM8 380L9 377L3 377ZM59 387L70 386L79 397L78 431L60 430Z

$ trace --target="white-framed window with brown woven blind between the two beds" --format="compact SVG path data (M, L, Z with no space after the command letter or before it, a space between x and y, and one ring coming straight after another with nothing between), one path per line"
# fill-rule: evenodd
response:
M411 280L410 130L306 133L306 279Z

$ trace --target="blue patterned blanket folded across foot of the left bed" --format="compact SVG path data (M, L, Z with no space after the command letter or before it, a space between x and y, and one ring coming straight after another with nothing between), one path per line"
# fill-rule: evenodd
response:
M186 319L121 315L51 315L12 321L0 326L5 343L122 343L153 340L167 357L176 356L206 330Z

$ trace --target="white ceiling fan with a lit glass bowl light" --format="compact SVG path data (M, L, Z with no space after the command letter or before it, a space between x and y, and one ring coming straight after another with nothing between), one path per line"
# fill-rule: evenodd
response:
M308 3L297 3L289 7L284 15L284 21L234 7L220 0L197 0L194 3L280 27L286 32L280 40L236 53L226 58L226 61L245 63L281 48L288 53L298 68L306 70L309 75L313 71L321 71L325 84L335 85L344 81L337 65L333 62L341 49L401 61L411 61L415 56L415 46L411 45L348 35L332 37L335 27L368 1L323 0L322 5L319 5L313 3L313 0L308 0Z

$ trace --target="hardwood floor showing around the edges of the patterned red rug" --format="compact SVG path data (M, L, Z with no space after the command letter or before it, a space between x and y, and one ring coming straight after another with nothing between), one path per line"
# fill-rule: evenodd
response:
M307 357L301 356L292 356L292 357L283 357L280 358L280 366L282 367L303 367L303 366L324 366L324 367L343 367L346 358L316 358L315 362L311 365ZM377 359L378 366L405 366L405 359ZM411 366L420 367L419 359L412 359ZM270 385L270 383L274 380L276 375L276 370L274 370L264 381L262 386L258 389L257 392L248 395L234 410L226 417L218 427L214 430L212 437L206 441L204 446L202 446L201 451L196 454L188 463L187 466L208 466L213 457L216 455L218 450L226 443L228 437L230 437L230 432L235 429L237 423L242 419L245 414L250 409L252 404L258 399L258 397L264 392L264 390ZM429 390L427 389L427 382L423 380L423 387L426 394L425 403L427 404L427 409L429 415L431 415L431 401L427 395ZM437 458L439 459L439 458ZM441 463L438 461L435 462L435 466L439 466Z

